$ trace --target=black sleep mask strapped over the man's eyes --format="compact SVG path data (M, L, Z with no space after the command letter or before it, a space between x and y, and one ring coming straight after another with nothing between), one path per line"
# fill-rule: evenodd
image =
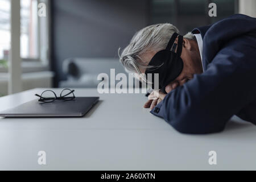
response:
M174 44L176 37L178 36L177 44ZM181 59L181 51L183 45L183 36L174 33L168 42L166 49L157 52L150 60L148 65L152 68L146 69L146 77L148 73L152 73L152 88L154 85L154 73L159 74L159 89L161 92L166 93L166 86L170 82L174 81L177 76L180 75L183 69L183 60ZM177 51L175 49L177 46ZM171 49L172 48L172 49Z

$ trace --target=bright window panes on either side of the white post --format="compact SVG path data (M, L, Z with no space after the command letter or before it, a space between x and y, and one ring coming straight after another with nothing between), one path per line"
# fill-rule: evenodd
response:
M20 57L23 61L48 60L48 14L38 16L38 4L47 0L20 0ZM0 60L10 52L10 0L0 0ZM1 65L0 65L1 67Z

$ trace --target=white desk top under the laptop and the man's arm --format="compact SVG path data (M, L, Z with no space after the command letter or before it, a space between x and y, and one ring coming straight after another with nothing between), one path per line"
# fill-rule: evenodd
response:
M0 98L0 110L35 99L45 89ZM56 90L56 89L53 89ZM171 170L256 169L256 127L229 122L222 133L185 135L143 109L143 94L98 94L82 118L1 118L0 169ZM46 165L38 151L46 151ZM217 152L209 165L208 152Z

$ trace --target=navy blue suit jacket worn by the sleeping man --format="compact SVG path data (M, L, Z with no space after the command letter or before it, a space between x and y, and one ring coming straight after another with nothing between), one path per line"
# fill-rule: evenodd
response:
M151 113L189 134L224 130L233 115L256 124L256 18L236 14L195 28L204 73L172 90Z

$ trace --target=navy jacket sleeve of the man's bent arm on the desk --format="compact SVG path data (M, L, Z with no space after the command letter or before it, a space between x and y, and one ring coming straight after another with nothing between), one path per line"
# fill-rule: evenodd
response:
M227 43L204 73L168 93L151 113L181 133L222 131L232 115L256 99L255 43L249 36Z

